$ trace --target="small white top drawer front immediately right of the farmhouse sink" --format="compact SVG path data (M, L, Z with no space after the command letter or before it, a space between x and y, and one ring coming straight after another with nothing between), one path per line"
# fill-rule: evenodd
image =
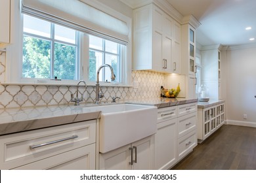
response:
M158 123L163 122L165 120L177 118L177 111L178 111L177 106L159 108L158 109Z

